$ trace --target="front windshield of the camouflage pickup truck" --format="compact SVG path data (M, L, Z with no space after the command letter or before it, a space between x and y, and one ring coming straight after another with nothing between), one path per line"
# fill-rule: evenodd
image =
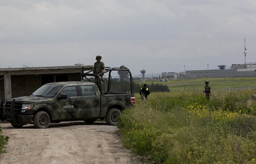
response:
M61 86L43 85L33 92L32 95L53 98L60 88Z

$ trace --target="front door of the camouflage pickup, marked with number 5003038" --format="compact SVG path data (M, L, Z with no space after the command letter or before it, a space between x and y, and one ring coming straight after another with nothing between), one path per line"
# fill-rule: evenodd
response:
M60 94L67 95L67 99L57 100L58 109L54 112L55 118L58 120L80 118L81 100L77 94L77 86L67 86Z

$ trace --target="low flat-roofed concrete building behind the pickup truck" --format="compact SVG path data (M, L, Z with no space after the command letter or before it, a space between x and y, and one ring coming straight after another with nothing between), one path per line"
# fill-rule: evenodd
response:
M1 98L28 96L49 82L78 81L84 70L93 66L50 66L25 68L0 68Z

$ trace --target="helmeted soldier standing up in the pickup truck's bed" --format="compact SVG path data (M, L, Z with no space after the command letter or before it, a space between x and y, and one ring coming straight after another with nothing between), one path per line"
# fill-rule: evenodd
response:
M100 61L101 60L101 56L97 55L96 56L96 62L94 63L94 67L93 67L93 74L100 74L100 73L105 73L105 64L104 62ZM103 74L100 75L100 77L102 78ZM95 82L98 85L98 87L100 88L100 82L101 79L99 79L98 77L95 77Z

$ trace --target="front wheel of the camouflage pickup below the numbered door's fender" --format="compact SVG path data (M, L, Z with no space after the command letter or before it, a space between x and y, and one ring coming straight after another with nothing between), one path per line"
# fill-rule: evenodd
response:
M50 116L45 111L39 111L34 115L33 123L36 128L48 128L50 124Z

